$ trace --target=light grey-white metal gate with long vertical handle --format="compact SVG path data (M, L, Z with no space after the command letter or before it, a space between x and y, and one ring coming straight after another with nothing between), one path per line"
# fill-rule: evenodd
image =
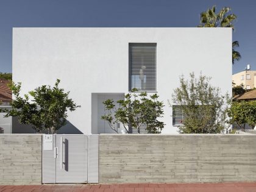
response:
M98 135L43 135L43 183L98 183Z

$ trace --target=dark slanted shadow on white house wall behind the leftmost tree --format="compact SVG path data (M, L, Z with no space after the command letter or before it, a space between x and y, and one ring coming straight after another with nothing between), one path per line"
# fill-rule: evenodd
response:
M17 117L12 118L12 133L35 133L31 126L20 124ZM58 134L83 134L72 123L67 124L57 131Z

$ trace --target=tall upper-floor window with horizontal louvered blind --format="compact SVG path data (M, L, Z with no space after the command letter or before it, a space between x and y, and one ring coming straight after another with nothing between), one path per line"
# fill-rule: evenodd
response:
M157 90L157 44L129 43L129 91Z

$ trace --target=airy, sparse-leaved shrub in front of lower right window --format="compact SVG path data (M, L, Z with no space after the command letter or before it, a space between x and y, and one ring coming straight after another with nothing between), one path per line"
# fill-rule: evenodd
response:
M219 88L210 85L210 77L200 74L197 79L194 73L190 73L190 80L180 77L172 101L185 116L180 133L221 133L226 128L229 96L222 96Z

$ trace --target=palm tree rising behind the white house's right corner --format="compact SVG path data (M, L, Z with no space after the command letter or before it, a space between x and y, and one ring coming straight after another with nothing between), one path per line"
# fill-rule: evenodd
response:
M236 20L236 15L230 13L230 7L222 7L222 9L216 13L216 6L213 5L212 9L208 9L200 14L200 24L197 27L232 27L233 22ZM241 54L235 51L235 48L239 47L238 41L232 43L232 63L241 59Z

